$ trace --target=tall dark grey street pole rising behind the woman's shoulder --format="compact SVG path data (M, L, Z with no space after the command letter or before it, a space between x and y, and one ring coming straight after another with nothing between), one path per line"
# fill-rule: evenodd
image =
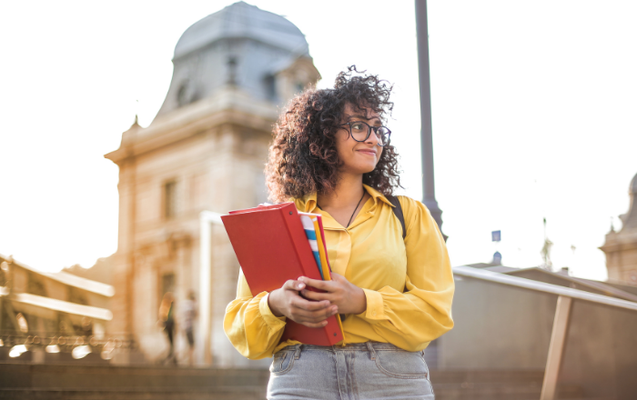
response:
M420 153L422 162L422 203L442 232L442 210L436 201L433 177L433 143L431 140L430 45L427 28L427 0L416 0L416 32L420 80ZM442 234L447 240L447 235Z

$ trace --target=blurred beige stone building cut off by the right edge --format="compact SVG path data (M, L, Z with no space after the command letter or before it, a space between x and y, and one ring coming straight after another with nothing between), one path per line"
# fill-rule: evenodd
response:
M600 249L606 254L606 269L610 281L637 285L637 175L628 189L630 206L620 215L622 229L606 234L606 242Z

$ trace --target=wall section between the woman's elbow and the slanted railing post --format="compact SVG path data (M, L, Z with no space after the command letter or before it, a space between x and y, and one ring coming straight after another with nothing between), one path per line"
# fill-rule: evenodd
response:
M544 368L556 302L555 295L457 276L456 325L439 339L439 368Z

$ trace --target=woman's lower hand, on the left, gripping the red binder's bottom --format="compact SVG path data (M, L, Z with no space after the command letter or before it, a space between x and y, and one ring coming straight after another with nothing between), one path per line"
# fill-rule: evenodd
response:
M329 316L339 313L339 307L329 301L308 301L298 295L305 289L305 284L300 281L289 280L280 289L273 290L268 295L268 305L272 314L285 315L298 324L319 328L328 325Z

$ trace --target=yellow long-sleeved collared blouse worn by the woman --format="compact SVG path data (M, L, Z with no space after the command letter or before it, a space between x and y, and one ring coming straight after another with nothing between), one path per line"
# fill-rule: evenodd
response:
M343 322L346 343L383 342L420 351L453 327L453 275L447 247L425 205L399 196L407 236L391 210L393 205L368 185L371 198L348 228L317 207L317 196L296 199L298 210L323 215L332 271L359 286L367 310ZM297 341L279 343L286 325L268 307L268 293L252 296L239 275L237 298L227 305L224 330L239 353L272 356Z

